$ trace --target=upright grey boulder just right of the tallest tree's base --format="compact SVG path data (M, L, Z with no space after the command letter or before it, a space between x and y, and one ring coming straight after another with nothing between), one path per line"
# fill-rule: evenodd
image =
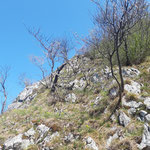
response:
M119 113L118 120L119 124L123 127L126 127L131 121L131 119L124 112Z

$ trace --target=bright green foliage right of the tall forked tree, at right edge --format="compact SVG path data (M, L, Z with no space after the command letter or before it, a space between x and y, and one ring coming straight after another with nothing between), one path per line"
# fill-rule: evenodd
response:
M130 63L140 64L147 56L150 56L150 20L143 20L137 24L127 38L127 49ZM126 65L126 52L124 43L119 49L122 65ZM116 63L116 57L114 57Z

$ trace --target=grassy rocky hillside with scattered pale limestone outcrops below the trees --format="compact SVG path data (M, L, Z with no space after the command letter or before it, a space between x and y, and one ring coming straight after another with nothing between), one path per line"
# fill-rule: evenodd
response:
M124 67L123 76L121 106L107 120L118 100L109 67L74 57L55 95L34 83L0 116L0 149L150 150L150 58Z

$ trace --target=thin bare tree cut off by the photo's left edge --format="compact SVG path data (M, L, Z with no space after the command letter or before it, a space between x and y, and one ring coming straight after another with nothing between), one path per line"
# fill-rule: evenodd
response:
M1 114L3 114L5 107L6 107L6 101L7 101L7 88L6 88L6 82L8 79L8 73L10 71L10 67L0 67L0 93L2 94L2 108L1 108Z

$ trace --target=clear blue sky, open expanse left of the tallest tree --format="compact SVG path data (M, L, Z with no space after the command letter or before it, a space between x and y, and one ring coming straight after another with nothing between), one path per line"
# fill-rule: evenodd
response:
M23 24L41 28L55 37L77 32L86 36L92 29L94 4L90 0L1 0L0 65L10 65L8 104L21 92L18 77L26 73L38 80L40 72L29 61L30 55L41 55L38 42Z

